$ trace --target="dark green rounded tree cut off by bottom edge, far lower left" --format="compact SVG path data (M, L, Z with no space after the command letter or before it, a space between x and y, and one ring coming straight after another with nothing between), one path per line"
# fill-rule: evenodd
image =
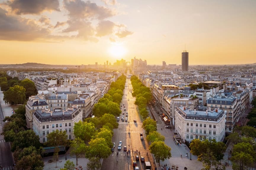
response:
M17 161L15 169L23 170L43 170L44 161L39 154L31 153L30 155L23 156L19 161Z

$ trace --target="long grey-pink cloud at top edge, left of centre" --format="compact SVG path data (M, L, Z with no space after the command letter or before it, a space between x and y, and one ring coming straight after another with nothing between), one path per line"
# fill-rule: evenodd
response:
M105 19L115 15L115 13L104 6L97 6L96 3L81 0L64 0L64 7L68 10L72 18L84 19Z

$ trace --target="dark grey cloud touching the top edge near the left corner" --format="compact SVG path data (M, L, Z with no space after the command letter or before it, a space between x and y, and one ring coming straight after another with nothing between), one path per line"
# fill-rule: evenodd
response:
M59 11L59 0L14 0L8 5L16 14L40 14L43 11Z

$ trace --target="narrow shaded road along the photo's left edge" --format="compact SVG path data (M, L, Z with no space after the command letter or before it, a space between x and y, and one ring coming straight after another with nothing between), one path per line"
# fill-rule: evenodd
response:
M2 133L2 129L4 126L4 113L3 113L3 109L1 104L3 104L4 102L3 100L3 95L2 95L2 91L0 94L0 133ZM2 166L3 170L10 170L12 169L12 165L13 165L13 158L12 158L12 152L11 152L11 147L9 142L5 142L4 140L4 136L0 135L0 165Z

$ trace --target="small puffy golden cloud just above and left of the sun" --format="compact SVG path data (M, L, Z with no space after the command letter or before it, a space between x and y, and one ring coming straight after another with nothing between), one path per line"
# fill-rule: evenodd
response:
M97 25L96 36L103 37L105 35L110 35L113 32L113 28L115 27L115 23L111 21L100 21Z

